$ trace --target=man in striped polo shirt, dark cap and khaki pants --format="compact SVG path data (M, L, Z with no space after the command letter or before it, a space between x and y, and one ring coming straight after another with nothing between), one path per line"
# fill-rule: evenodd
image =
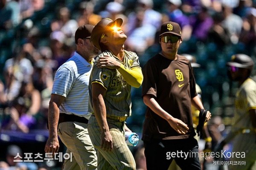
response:
M49 138L45 152L58 152L58 136L74 159L65 159L64 170L96 170L97 156L90 140L87 122L88 84L94 57L99 50L90 42L92 25L76 30L76 52L61 65L54 78L49 102ZM58 134L58 135L57 135Z

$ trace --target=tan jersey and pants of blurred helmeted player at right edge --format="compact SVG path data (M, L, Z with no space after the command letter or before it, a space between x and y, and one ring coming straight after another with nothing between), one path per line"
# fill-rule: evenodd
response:
M236 92L235 99L235 124L232 131L247 129L250 131L240 132L233 141L234 153L245 152L245 157L232 156L231 162L245 161L244 165L230 164L229 170L254 170L256 165L256 136L252 125L250 109L256 109L256 82L252 79L246 79ZM239 121L237 121L240 119ZM254 164L254 167L252 165Z

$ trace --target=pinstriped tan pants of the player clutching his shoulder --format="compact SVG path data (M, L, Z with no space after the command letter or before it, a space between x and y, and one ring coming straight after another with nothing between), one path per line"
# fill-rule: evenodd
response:
M101 148L101 129L94 115L88 122L88 133L93 146L97 149L98 170L135 170L135 160L125 143L124 122L108 120L109 131L113 140L113 150Z

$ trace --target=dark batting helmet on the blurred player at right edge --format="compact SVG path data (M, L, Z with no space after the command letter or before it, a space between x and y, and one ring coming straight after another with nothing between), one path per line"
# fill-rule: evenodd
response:
M253 59L246 54L235 54L231 56L231 62L227 62L228 66L234 66L237 68L248 68L253 70Z

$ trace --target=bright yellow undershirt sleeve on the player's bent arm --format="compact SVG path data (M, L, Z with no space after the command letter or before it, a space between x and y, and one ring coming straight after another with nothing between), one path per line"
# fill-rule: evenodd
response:
M124 77L125 81L129 85L135 88L139 88L142 84L143 74L140 68L134 67L129 69L121 64L120 68L118 68L117 70L122 74L122 77Z

